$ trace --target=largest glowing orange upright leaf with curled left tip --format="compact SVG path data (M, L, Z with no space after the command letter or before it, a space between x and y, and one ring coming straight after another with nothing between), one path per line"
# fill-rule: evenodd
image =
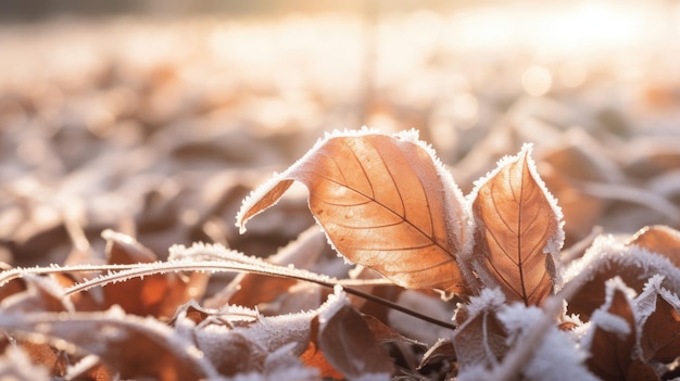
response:
M456 255L462 195L415 132L336 134L245 199L237 226L275 204L293 181L335 247L400 285L466 293Z

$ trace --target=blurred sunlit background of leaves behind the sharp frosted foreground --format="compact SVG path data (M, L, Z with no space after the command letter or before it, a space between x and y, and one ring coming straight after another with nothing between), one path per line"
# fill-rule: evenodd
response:
M420 130L465 193L526 141L594 227L680 226L680 2L0 3L0 261L161 257L219 242L268 255L313 224L293 192L241 199L325 131Z

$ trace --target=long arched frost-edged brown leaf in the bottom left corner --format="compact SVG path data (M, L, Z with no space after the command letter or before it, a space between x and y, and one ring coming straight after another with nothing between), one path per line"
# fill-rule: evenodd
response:
M122 379L198 380L215 376L203 355L173 330L152 318L125 315L119 308L105 313L10 314L0 317L0 329L13 335L61 340L99 356Z

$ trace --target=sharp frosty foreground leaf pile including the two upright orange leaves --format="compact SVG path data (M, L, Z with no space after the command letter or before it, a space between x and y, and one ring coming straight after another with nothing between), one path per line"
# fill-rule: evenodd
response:
M565 255L562 209L531 152L525 144L502 158L464 196L416 130L390 136L364 128L319 139L243 201L237 226L245 232L250 218L300 181L328 242L357 265L344 279L298 268L322 253L317 230L267 261L205 244L174 246L159 261L133 238L106 230L105 264L8 269L0 274L7 374L672 377L680 357L680 232L652 226L627 240L599 236L581 256ZM72 256L67 263L84 259L78 251ZM209 272L216 271L242 275L209 293ZM376 281L377 274L393 284ZM454 325L410 329L418 316L394 316L389 301L432 319L420 323ZM13 361L34 366L20 370Z

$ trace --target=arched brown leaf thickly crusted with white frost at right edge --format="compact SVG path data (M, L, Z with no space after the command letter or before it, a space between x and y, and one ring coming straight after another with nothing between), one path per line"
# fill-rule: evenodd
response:
M565 283L578 291L568 300L569 314L578 314L583 321L605 301L605 282L620 277L635 293L655 275L664 276L664 285L680 289L680 269L658 254L638 245L626 245L612 237L599 237L585 254L574 261L565 271Z

